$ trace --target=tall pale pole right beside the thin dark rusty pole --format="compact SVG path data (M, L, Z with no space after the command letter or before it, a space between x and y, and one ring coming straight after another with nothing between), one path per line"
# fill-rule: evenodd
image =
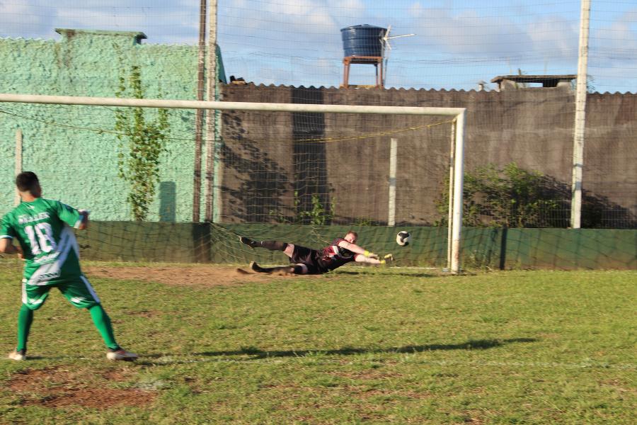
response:
M208 76L207 98L208 101L217 101L217 0L210 1L208 8ZM214 137L215 112L209 109L206 113L206 221L212 222L212 208L214 205L214 193L217 181L215 181L215 164L217 159L217 142Z

